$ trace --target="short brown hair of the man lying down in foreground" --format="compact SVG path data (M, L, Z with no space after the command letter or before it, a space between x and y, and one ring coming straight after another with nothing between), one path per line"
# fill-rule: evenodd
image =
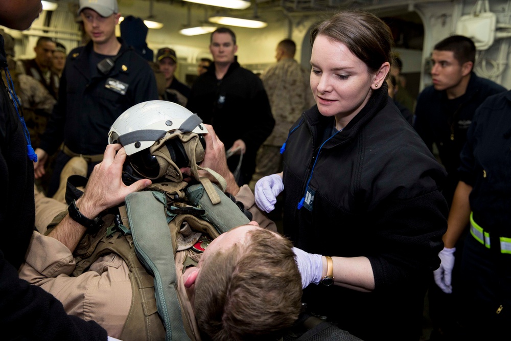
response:
M210 255L195 287L195 317L204 339L271 340L298 318L301 277L292 243L272 232Z

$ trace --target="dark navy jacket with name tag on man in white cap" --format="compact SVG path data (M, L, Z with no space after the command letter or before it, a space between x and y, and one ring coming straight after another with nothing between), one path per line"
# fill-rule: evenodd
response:
M137 103L158 99L149 64L118 39L122 43L119 58L107 75L90 65L92 42L67 56L59 101L41 137L40 148L47 153L54 153L64 141L76 153L103 154L110 126L121 113Z

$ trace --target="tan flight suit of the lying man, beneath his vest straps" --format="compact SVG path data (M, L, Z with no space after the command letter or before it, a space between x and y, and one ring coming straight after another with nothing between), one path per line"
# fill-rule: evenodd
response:
M257 209L254 197L248 186L243 186L236 200L244 203L262 228L276 231L275 224ZM67 206L59 201L36 195L36 226L44 231L51 221L50 215L66 210ZM183 232L189 233L189 232ZM199 236L193 236L194 241ZM182 245L182 244L179 244ZM184 242L187 249L175 255L178 295L182 299L185 316L192 326L195 339L200 339L197 322L182 281L182 268L185 255L194 261L201 254L192 251L193 243ZM19 277L40 286L52 293L64 305L68 314L89 321L94 320L108 332L109 336L120 338L130 311L132 300L129 267L118 255L107 254L92 263L90 269L78 277L72 277L76 260L69 249L58 240L34 232L26 263L21 266ZM155 308L155 307L154 307ZM125 336L125 335L123 335ZM129 338L124 337L124 341Z

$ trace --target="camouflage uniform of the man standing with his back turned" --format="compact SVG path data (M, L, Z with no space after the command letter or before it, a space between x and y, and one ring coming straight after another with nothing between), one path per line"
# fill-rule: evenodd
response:
M281 59L261 76L270 100L275 127L259 148L257 167L250 183L252 189L261 177L282 171L280 148L287 139L289 128L302 112L315 104L309 78L309 73L292 58Z

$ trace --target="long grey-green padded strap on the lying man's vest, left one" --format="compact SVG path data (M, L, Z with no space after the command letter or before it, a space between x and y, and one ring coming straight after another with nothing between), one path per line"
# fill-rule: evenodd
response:
M129 194L125 202L135 252L154 275L156 307L165 324L165 339L190 340L181 320L174 254L169 252L173 247L165 214L165 195L135 192Z

